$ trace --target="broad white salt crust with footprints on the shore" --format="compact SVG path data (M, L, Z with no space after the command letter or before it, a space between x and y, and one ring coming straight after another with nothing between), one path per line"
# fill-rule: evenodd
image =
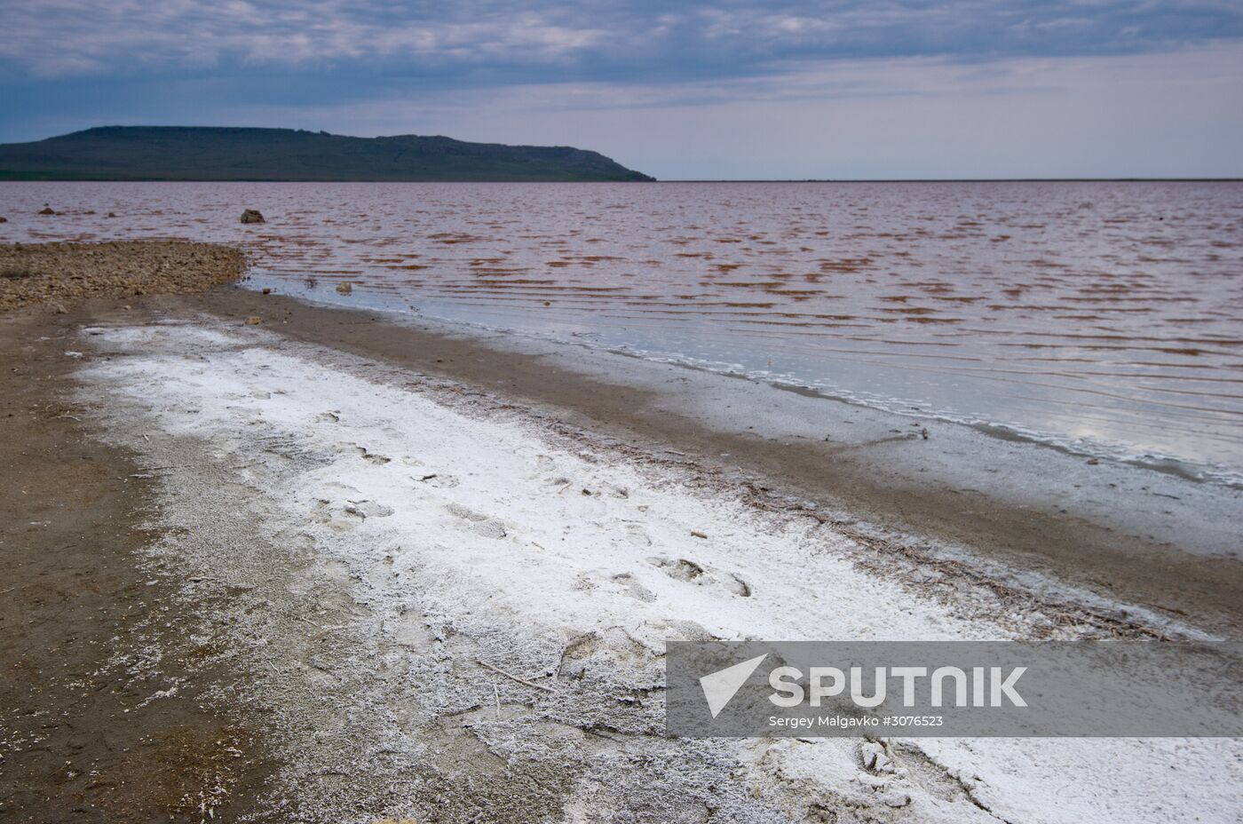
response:
M162 478L152 552L188 602L227 605L199 631L255 672L221 700L271 718L292 820L1243 809L1233 741L894 739L881 761L849 739L666 738L669 639L1079 630L970 580L927 597L805 512L451 382L209 321L82 337L83 399Z

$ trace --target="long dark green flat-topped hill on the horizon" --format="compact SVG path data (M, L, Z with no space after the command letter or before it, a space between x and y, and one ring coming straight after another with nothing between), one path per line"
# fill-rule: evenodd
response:
M302 129L104 126L0 144L0 180L651 180L568 145Z

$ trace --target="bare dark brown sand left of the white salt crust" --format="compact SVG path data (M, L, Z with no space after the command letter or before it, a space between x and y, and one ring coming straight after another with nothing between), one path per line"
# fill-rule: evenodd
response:
M271 773L261 722L208 701L249 675L144 549L149 467L102 442L66 357L107 302L0 316L0 819L241 815ZM216 641L219 644L219 641ZM234 819L236 820L236 819Z

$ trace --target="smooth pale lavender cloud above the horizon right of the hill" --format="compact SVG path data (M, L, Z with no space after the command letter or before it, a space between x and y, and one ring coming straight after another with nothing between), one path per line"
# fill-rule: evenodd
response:
M1157 55L808 61L245 108L249 124L590 147L661 179L1243 175L1243 43Z

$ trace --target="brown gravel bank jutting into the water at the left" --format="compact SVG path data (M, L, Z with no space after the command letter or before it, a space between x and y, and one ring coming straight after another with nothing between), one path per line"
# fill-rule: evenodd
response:
M89 297L184 295L246 271L236 249L179 240L0 245L0 311Z

